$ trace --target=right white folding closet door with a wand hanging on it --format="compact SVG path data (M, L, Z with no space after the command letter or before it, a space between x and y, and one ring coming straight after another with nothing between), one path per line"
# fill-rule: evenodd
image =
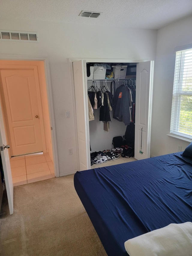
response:
M150 157L154 61L137 63L135 159Z

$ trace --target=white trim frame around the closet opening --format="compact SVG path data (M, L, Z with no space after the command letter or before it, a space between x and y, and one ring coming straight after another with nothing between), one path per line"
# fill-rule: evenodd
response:
M148 59L90 59L90 58L69 58L69 73L70 73L70 85L71 85L71 94L72 94L72 107L73 107L73 122L75 128L75 149L76 149L76 162L77 162L77 171L79 171L79 153L78 153L78 136L77 136L77 121L76 121L76 107L75 107L75 88L74 88L74 80L73 80L73 62L79 60L86 60L86 62L100 62L100 63L139 63L139 62L147 62ZM85 81L86 82L86 81ZM87 82L85 83L85 91L87 90ZM88 118L88 116L87 116ZM89 130L89 122L87 119L87 130ZM89 132L88 135L88 143L90 142ZM90 148L88 147L88 154L90 154ZM91 165L89 163L89 169Z

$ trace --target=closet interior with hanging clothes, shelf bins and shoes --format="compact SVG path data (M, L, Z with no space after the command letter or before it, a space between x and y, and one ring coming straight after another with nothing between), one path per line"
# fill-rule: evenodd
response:
M86 63L91 168L134 160L136 65ZM121 142L127 126L127 140ZM113 145L117 136L119 145Z

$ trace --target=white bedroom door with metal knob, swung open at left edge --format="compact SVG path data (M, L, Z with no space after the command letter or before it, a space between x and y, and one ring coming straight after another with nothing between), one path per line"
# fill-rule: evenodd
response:
M4 122L2 111L0 107L0 147L1 147L1 159L3 165L3 172L4 172L4 179L5 179L5 186L7 191L7 199L9 204L9 212L13 214L13 180L11 174L11 167L9 161L9 152L7 148L4 148L4 145L7 145L7 138L5 134Z

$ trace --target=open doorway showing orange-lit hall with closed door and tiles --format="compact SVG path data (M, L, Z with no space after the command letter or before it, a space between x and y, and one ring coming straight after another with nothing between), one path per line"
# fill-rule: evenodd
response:
M55 177L44 61L0 61L13 185Z

